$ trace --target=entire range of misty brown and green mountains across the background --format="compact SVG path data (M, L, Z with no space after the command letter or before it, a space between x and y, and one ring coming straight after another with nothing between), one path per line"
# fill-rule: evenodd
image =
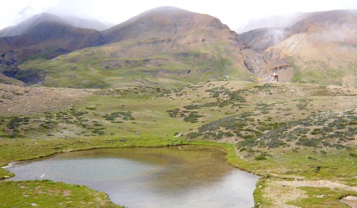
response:
M0 82L172 88L276 72L283 82L357 87L356 24L355 10L321 11L238 34L216 17L160 7L101 30L39 14L0 31Z

